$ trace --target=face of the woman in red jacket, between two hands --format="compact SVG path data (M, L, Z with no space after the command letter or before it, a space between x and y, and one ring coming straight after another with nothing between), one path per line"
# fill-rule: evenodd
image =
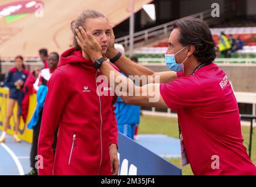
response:
M105 55L110 44L110 24L106 18L87 19L85 23L86 32L99 42L102 47L102 54Z

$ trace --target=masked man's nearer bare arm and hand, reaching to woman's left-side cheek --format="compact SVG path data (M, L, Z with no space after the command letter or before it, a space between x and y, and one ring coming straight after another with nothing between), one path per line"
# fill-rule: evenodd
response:
M76 32L78 33L76 40L81 49L90 56L92 61L101 58L102 48L99 43L97 43L92 34L86 33L82 27L79 27L79 29L80 31L76 29ZM116 95L120 96L125 103L139 106L152 106L156 108L169 108L160 95L160 84L136 86L130 79L116 71L107 61L103 61L100 65L100 71L107 77L110 86L114 88L120 84L120 82L116 80L122 79L122 89L114 90ZM114 76L114 79L112 79L112 76Z

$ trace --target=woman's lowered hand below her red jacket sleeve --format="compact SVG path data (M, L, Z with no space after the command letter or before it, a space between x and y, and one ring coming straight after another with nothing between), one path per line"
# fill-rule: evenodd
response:
M116 144L111 144L109 146L110 164L112 175L118 175L119 171L119 160L117 157L117 147Z

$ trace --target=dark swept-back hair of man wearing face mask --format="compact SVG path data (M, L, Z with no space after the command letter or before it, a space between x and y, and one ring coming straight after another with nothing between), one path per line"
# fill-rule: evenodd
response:
M178 41L183 46L195 46L194 56L200 63L214 61L218 49L210 29L203 20L192 17L178 19L173 27L180 30Z

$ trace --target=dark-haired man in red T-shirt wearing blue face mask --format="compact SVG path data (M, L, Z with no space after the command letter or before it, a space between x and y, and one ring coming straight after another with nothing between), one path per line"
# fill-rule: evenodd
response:
M195 175L256 175L241 133L240 114L237 101L227 75L213 63L216 47L210 30L203 20L184 18L177 20L169 37L166 65L177 72L177 79L166 82L169 72L153 72L120 56L112 43L106 56L126 75L153 76L153 84L133 85L127 81L139 96L125 96L124 102L132 105L170 108L176 110L184 143L183 161L190 162ZM102 57L101 48L90 33L77 30L79 45L90 54L103 75L110 80L123 76ZM102 58L101 58L102 59ZM157 76L160 77L159 82ZM120 78L119 78L120 79ZM111 82L110 82L111 84ZM118 85L119 82L115 82ZM149 93L147 91L152 90ZM118 91L116 91L118 92ZM123 89L122 93L129 93ZM152 98L159 98L156 102ZM181 136L180 136L181 137ZM185 164L185 163L184 163Z

